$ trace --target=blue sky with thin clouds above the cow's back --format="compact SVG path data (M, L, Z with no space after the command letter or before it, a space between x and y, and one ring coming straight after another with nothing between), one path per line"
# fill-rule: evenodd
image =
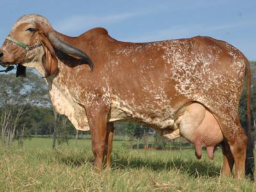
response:
M0 44L20 16L38 13L65 35L104 27L117 40L151 42L207 35L256 60L256 1L1 0Z

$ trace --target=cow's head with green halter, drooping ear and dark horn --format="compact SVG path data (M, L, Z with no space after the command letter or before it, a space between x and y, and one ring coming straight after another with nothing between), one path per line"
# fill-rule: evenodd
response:
M93 70L88 55L61 40L45 17L24 15L14 24L0 49L0 64L17 64L17 76L25 76L26 67L33 67L47 77L58 69L56 51L81 58Z

